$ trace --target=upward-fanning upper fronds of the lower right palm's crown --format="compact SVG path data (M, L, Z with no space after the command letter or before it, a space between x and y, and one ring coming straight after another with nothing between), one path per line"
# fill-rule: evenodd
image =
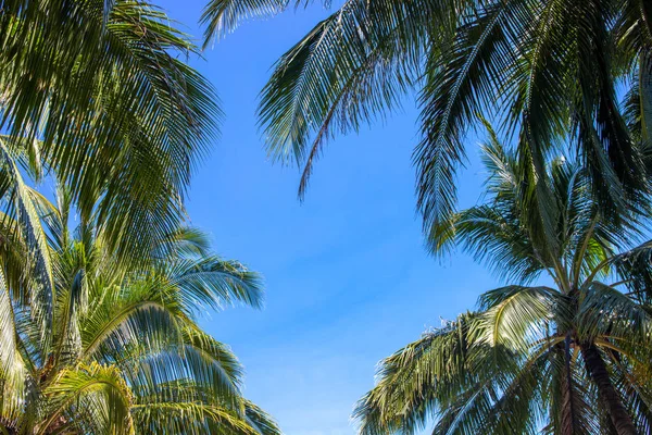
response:
M434 253L460 245L501 278L527 284L549 272L569 293L605 259L641 240L649 216L644 197L618 215L605 214L593 200L589 171L577 160L554 158L532 179L534 162L505 149L487 127L481 146L487 202L434 225L428 237Z

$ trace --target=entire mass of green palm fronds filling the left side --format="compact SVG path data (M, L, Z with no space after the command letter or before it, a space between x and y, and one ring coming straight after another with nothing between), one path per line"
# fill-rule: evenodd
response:
M279 433L196 323L262 289L184 224L193 52L142 1L0 0L0 433Z

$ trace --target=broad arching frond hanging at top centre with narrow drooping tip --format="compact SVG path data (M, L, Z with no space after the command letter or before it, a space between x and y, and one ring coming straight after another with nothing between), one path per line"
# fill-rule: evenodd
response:
M327 139L399 107L417 79L427 22L413 21L427 14L414 8L350 0L277 62L259 117L269 154L303 166L300 197Z

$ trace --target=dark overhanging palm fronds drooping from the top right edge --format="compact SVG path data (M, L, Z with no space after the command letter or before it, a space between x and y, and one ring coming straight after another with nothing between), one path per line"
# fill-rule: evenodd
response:
M290 4L211 0L205 40ZM347 0L278 60L263 89L268 152L303 165L302 196L328 138L384 117L414 89L426 232L454 211L455 173L478 112L521 132L522 154L539 173L551 147L572 144L604 209L617 209L645 189L627 121L636 113L650 140L651 20L643 0Z

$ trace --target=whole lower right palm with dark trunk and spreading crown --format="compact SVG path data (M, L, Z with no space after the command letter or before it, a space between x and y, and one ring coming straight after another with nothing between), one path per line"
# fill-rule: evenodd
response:
M542 213L529 170L493 133L484 160L487 203L434 227L431 247L460 244L517 284L385 359L355 409L360 433L428 422L441 435L649 433L652 241L632 247L641 214L603 214L589 171L562 158L535 189L550 200Z

